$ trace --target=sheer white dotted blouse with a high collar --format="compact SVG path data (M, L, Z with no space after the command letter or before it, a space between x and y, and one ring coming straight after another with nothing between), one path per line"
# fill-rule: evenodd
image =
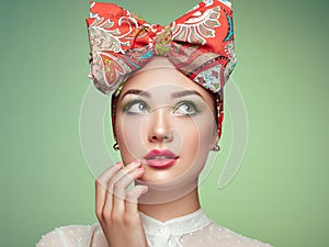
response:
M217 225L202 209L160 222L140 213L149 247L265 247L269 244L243 237ZM55 228L36 247L107 247L99 223Z

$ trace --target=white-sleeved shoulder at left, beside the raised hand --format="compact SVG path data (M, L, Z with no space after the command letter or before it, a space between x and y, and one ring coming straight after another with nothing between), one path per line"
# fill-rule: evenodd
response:
M98 231L98 224L93 225L69 225L55 227L52 232L42 236L36 247L67 247L89 246L92 236Z

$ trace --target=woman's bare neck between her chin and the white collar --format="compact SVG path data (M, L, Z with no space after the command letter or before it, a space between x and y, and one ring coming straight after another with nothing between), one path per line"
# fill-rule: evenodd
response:
M163 198L170 198L168 193L163 191L148 190L146 193L148 197L157 200ZM151 216L158 221L166 222L171 218L191 214L200 209L200 201L197 194L197 187L194 187L189 193L183 197L177 198L172 201L161 203L138 203L138 210L144 214Z

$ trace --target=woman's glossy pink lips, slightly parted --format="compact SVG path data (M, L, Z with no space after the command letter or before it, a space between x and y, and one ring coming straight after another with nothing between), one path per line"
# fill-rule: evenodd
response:
M171 150L152 149L145 157L146 164L155 168L168 168L175 164L178 156Z

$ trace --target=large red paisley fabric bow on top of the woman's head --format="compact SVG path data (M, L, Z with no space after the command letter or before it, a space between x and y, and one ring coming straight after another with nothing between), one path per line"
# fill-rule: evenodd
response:
M87 19L90 77L112 94L152 56L166 56L186 77L217 93L236 65L232 11L226 0L204 0L168 26L129 11L90 2Z

